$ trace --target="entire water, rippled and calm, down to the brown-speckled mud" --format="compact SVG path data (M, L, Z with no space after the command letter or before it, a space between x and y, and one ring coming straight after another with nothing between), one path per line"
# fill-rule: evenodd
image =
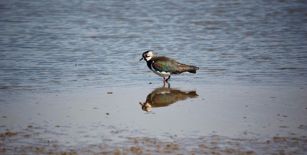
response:
M143 136L306 135L306 6L1 1L0 133L58 141L64 150ZM152 49L200 69L163 87L138 61ZM141 109L146 101L151 112Z

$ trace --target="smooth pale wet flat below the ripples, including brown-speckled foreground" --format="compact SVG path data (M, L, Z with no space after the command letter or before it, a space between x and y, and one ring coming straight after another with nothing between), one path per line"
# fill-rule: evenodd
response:
M176 86L181 88L152 83L6 99L0 153L306 154L306 89Z

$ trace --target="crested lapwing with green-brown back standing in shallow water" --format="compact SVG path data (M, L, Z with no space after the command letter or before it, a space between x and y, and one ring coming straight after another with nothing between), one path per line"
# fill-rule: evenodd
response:
M197 73L198 66L189 66L181 64L174 59L165 56L153 55L153 50L148 50L142 54L141 60L145 60L149 69L155 74L163 77L163 82L167 82L172 74L180 74L182 72ZM165 79L165 77L168 77Z

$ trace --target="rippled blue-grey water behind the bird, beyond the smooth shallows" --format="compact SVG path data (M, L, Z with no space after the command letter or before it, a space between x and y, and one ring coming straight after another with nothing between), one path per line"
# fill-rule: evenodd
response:
M307 84L304 1L15 0L0 6L1 91L159 81L138 62L149 49L200 66L197 75L183 76L201 85Z

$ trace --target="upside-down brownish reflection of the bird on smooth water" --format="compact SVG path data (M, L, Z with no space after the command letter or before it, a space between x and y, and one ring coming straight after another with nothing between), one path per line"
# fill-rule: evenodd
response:
M156 88L147 95L145 103L139 103L142 105L143 111L152 111L154 107L165 107L173 104L177 101L182 101L187 98L197 97L196 91L181 91L179 89L171 89L170 85L166 88Z

